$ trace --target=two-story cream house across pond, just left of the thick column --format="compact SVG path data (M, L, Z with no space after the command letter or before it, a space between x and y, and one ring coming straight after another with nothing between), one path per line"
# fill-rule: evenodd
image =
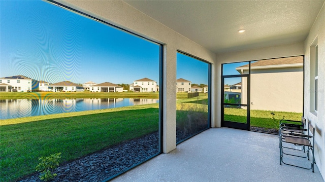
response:
M143 78L130 84L129 90L132 92L157 92L157 82Z

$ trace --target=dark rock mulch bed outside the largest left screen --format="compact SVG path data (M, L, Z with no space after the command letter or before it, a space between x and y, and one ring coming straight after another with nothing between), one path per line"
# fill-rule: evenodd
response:
M53 181L103 181L159 152L158 132L59 166ZM39 173L19 181L41 181Z

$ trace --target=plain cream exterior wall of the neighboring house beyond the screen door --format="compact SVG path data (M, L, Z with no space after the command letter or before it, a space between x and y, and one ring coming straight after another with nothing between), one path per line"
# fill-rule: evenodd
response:
M250 109L302 113L303 75L303 67L251 70ZM247 103L246 77L242 78L242 103Z

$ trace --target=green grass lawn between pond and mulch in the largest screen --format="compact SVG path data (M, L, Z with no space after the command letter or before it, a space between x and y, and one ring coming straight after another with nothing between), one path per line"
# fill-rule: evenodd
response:
M62 153L72 161L158 131L159 109L99 113L1 126L1 181L35 172L38 158Z

